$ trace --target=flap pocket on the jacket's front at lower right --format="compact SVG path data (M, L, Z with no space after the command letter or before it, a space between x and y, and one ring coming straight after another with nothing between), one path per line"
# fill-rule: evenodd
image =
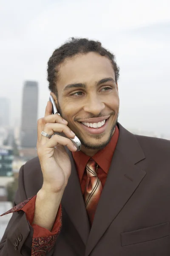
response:
M121 233L122 246L160 239L170 235L170 222Z

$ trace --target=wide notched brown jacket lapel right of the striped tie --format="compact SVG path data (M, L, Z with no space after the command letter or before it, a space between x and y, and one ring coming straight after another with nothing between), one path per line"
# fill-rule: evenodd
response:
M145 158L136 137L121 125L118 126L119 140L96 209L85 256L91 253L146 174L135 165Z

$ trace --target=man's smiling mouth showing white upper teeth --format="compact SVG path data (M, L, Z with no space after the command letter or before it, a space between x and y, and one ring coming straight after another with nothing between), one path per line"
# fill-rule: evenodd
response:
M79 122L79 124L90 134L102 134L107 128L109 118L101 122Z

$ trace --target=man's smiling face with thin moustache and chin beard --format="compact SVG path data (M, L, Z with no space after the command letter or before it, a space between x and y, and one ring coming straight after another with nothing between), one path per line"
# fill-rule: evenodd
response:
M105 147L119 114L111 61L94 52L68 58L59 66L57 90L60 114L82 145L89 149Z

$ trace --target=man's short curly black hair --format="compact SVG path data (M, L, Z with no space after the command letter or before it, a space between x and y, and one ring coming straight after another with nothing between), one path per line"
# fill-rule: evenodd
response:
M71 38L61 47L55 49L48 60L47 79L49 82L48 88L51 92L54 92L58 96L56 83L59 70L57 70L57 66L61 64L65 58L72 57L79 53L85 54L88 52L98 52L100 55L106 56L111 60L117 83L119 79L119 67L116 64L115 55L102 47L102 44L99 41L89 40L87 38Z

